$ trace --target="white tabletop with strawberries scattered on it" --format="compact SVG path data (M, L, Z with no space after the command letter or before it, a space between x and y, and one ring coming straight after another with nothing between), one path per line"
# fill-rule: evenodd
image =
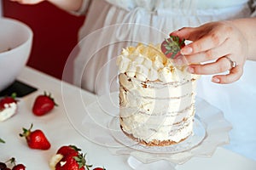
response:
M26 67L21 72L18 80L38 88L38 91L21 98L18 113L8 121L0 122L0 137L6 141L6 144L0 144L0 161L5 161L15 156L18 162L23 162L26 165L27 170L47 170L49 169L48 162L50 157L55 154L55 151L61 145L75 144L84 153L87 153L87 160L94 166L104 166L108 170L131 169L127 164L128 156L113 156L107 147L94 144L82 137L68 121L63 99L66 100L68 97L71 105L73 105L73 111L78 111L77 99L73 94L80 92L79 88L61 82L54 77L49 77L30 67ZM65 89L64 91L61 90L61 86L62 89ZM38 94L43 94L44 91L51 92L59 106L48 115L33 116L32 103ZM63 93L65 93L66 97L63 97ZM81 97L84 99L84 105L89 105L96 99L94 94L85 91L82 91ZM33 129L40 128L44 131L51 143L49 150L29 149L25 139L19 137L21 127L30 127L31 123L34 124ZM256 161L226 150L223 147L218 147L213 156L193 157L176 168L177 170L255 170Z

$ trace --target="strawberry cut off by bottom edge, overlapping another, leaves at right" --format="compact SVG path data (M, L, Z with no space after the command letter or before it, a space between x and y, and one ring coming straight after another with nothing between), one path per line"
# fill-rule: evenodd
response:
M91 165L86 165L85 155L79 154L73 156L73 154L64 156L61 161L55 165L55 170L84 170L85 167L89 170ZM85 166L85 167L84 167Z

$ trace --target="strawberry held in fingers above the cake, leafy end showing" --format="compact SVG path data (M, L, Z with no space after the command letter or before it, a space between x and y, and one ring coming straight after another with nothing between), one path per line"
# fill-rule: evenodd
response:
M164 42L161 43L161 51L166 54L167 58L176 58L180 55L180 50L185 46L185 40L177 37L171 36L166 38Z

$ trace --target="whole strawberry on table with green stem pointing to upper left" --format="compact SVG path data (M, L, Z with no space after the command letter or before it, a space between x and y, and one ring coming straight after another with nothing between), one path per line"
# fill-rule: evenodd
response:
M26 143L32 149L48 150L50 148L50 144L43 131L39 129L31 131L32 126L33 124L31 124L31 127L28 130L23 127L23 133L20 133L20 137L25 137Z

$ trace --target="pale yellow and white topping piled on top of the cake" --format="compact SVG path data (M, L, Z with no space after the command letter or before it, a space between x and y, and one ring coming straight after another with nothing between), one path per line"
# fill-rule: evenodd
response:
M191 79L191 74L183 67L177 68L171 59L160 50L160 45L143 45L124 48L117 58L119 72L140 81L177 82Z

